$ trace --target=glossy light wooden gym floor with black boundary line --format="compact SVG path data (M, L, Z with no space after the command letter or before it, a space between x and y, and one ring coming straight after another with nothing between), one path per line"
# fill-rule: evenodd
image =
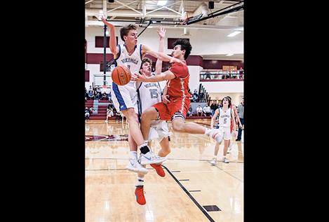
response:
M210 120L194 122L210 127ZM147 166L147 203L140 205L134 194L137 174L126 169L127 134L126 123L86 123L86 222L243 221L243 139L233 141L228 164L221 162L222 143L217 165L211 166L215 141L173 132L163 162L166 176ZM159 148L152 143L155 153Z

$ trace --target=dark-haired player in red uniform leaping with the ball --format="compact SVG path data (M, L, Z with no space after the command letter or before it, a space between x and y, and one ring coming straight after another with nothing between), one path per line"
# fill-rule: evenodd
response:
M217 129L208 129L196 123L185 123L189 109L189 70L185 60L191 53L192 46L187 39L177 39L173 43L173 58L182 62L170 61L172 66L168 71L156 76L133 74L135 81L158 82L167 81L165 90L170 102L159 102L142 113L141 129L145 140L149 137L150 125L153 120L171 120L175 132L190 134L206 134L217 142L222 141L223 134ZM162 60L161 58L158 58Z

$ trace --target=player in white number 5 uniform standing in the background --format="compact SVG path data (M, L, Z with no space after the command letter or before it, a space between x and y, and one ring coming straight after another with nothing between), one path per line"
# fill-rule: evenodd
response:
M210 127L213 128L213 125L215 123L215 119L217 116L218 118L218 123L219 123L219 130L223 132L224 134L224 152L223 152L223 159L222 162L229 163L229 160L227 160L226 154L227 154L227 148L229 146L229 140L231 139L231 118L234 120L233 122L233 129L235 129L235 116L234 116L234 111L232 111L231 108L231 100L229 98L224 97L222 100L222 107L216 109L213 118L211 118L211 123ZM234 137L236 137L236 131L233 131ZM213 160L210 161L211 165L216 165L217 163L217 154L220 149L220 144L216 142L215 144L215 151L214 151L214 157Z

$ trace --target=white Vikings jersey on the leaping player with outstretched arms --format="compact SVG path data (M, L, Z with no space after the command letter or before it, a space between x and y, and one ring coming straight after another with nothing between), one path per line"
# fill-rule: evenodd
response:
M131 74L137 74L142 66L142 44L135 46L133 54L129 55L126 45L118 45L119 57L116 58L116 64L125 64L130 69ZM136 88L135 81L130 81L127 86Z

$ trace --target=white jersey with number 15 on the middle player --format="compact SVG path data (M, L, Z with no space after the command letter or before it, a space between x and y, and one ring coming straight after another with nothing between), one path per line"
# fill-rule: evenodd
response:
M143 111L153 106L154 104L162 102L161 86L159 82L141 83L137 88L137 95L138 109L140 114L142 114Z

